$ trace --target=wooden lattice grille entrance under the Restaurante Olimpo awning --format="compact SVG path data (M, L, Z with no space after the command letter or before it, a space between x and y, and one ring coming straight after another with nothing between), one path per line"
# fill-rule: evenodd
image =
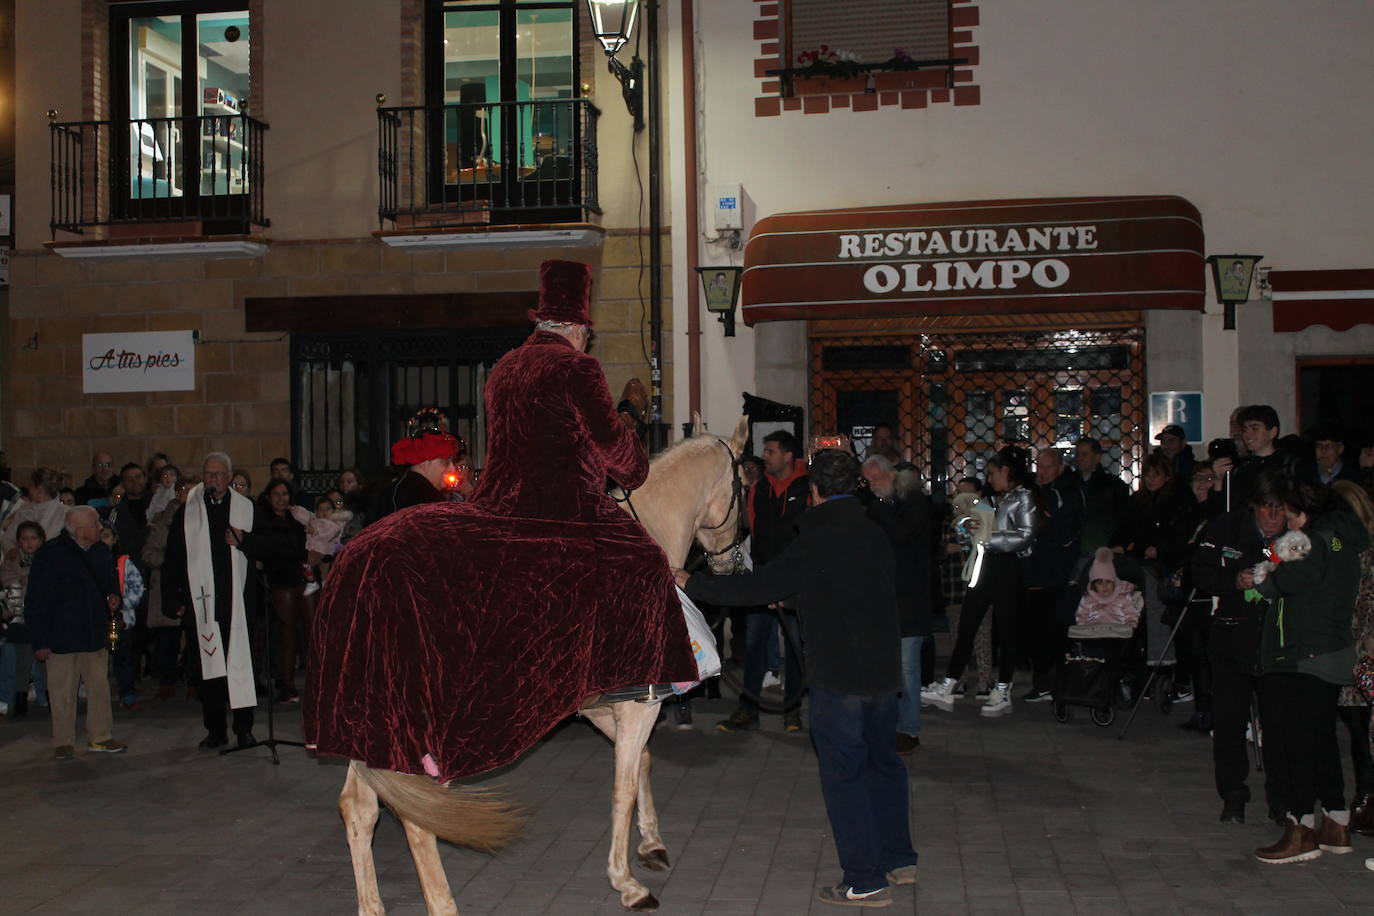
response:
M1009 444L1033 452L1102 441L1103 467L1135 486L1149 450L1142 328L1029 334L910 334L816 338L811 343L812 433L853 434L875 423L944 494L960 477L987 477Z

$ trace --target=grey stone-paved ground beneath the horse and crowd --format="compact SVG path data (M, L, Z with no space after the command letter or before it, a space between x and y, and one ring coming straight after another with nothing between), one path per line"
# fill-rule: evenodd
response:
M809 742L778 717L754 733L712 731L730 709L698 700L692 731L654 735L675 868L640 878L664 916L841 912L813 901L840 871ZM1374 840L1356 838L1353 856L1260 865L1250 850L1276 828L1254 803L1250 823L1217 823L1206 740L1179 732L1180 715L1145 709L1121 742L1120 721L1098 728L1079 711L1059 725L1048 705L991 721L973 700L927 710L910 764L919 883L894 889L888 912L1374 913L1363 867ZM280 737L300 735L298 711L280 720ZM126 754L78 748L59 764L45 717L0 722L0 913L354 912L341 762L291 747L280 766L264 748L221 758L196 750L201 736L195 703L151 700L115 715ZM610 765L606 742L570 721L500 775L533 820L492 857L442 847L463 916L624 912L605 876ZM423 913L389 814L375 853L389 912Z

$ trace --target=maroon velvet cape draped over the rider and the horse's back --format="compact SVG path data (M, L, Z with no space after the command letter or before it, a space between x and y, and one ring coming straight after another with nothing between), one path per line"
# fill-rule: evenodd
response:
M649 459L600 364L536 331L486 405L473 499L370 525L330 571L304 696L320 754L447 781L514 761L587 696L697 680L668 558L606 496Z

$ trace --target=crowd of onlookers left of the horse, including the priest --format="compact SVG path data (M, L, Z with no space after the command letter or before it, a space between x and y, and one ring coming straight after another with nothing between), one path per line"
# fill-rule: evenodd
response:
M70 759L78 696L89 750L118 753L114 703L136 710L184 691L203 707L202 747L229 743L225 706L238 744L251 746L258 694L298 702L315 596L342 544L371 519L471 492L463 442L429 435L438 423L419 419L397 444L400 472L375 488L349 468L306 493L276 459L256 492L218 452L194 470L159 452L118 471L99 452L74 489L41 467L22 489L0 482L0 715L49 707L54 754ZM412 455L422 441L442 448ZM269 645L268 684L251 659ZM157 687L144 694L144 683Z

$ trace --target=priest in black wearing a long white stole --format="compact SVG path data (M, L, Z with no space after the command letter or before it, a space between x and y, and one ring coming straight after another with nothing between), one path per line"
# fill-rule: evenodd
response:
M202 483L187 494L172 520L164 564L165 593L174 596L174 603L165 603L181 608L187 639L194 640L199 658L206 731L201 747L206 748L229 740L225 702L234 709L239 747L251 746L257 706L247 623L254 577L232 530L253 530L253 501L229 489L232 474L229 456L212 452L205 457Z

